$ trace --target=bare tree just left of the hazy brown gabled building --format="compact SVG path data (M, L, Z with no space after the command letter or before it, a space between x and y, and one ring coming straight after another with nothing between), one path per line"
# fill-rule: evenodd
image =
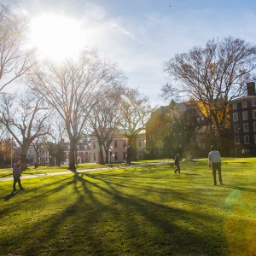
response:
M128 145L131 148L131 159L137 160L137 135L145 129L152 108L148 97L143 96L137 89L126 89L123 93L119 125L125 130Z

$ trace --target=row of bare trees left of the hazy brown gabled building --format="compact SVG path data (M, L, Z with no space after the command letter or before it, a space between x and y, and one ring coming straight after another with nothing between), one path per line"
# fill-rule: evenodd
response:
M77 143L90 133L98 139L101 163L108 162L103 151L108 152L117 128L125 130L136 150L137 133L151 113L148 97L128 88L119 67L94 49L58 63L37 60L35 50L22 46L25 23L3 3L0 8L0 122L22 148L22 168L28 147L39 137L55 138L61 128L70 142L71 170L76 169ZM21 95L3 92L18 79L24 84Z

